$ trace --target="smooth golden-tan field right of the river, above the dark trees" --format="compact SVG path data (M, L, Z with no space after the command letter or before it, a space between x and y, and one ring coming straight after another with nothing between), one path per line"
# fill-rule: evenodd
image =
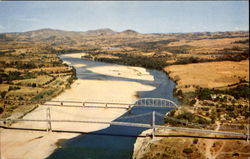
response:
M220 61L167 66L164 70L183 92L202 88L226 88L239 82L249 82L249 61Z

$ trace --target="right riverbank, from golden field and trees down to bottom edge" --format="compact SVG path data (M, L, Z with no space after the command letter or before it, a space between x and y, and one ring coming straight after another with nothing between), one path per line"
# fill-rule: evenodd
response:
M165 67L164 70L176 82L175 93L186 106L172 111L168 114L169 117L194 124L207 124L213 126L215 130L246 133L249 110L248 60L172 65ZM198 107L204 107L204 109ZM188 125L167 120L166 124L188 127ZM142 132L142 134L145 133L147 131ZM172 135L196 135L196 133L169 130L163 132L163 134L171 133ZM215 135L198 134L196 136L214 137ZM249 149L250 144L243 140L171 136L158 137L155 140L137 138L133 159L245 159L250 156Z

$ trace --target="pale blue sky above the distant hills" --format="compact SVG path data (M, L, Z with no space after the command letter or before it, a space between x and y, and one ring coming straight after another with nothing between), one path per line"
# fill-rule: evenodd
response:
M248 1L0 1L0 33L110 28L140 33L249 29Z

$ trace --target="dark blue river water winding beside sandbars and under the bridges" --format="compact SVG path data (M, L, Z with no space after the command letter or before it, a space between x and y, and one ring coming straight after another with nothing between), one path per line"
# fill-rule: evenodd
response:
M108 65L107 63L86 61L79 58L61 56L61 59L71 64L84 64L88 67L98 65ZM153 77L154 82L148 83L156 88L152 91L139 92L140 98L167 98L179 104L173 96L175 83L171 81L164 72L158 70L147 70ZM77 77L80 79L93 80L124 80L123 78L91 73L83 67L76 68ZM129 80L129 79L126 79ZM134 81L134 80L133 80ZM145 81L138 80L145 84ZM157 111L165 114L170 108L145 108L133 107L131 113L125 113L114 121L131 123L152 123L152 112ZM145 114L140 116L141 114ZM156 117L156 124L162 124L164 119ZM80 135L63 143L62 148L56 149L49 159L130 159L133 155L136 135L139 135L146 128L129 126L109 126L96 132Z

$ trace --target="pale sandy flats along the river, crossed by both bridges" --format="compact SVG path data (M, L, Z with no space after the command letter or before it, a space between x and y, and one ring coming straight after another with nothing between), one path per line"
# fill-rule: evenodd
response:
M74 54L66 55L76 58ZM75 66L77 71L81 67L88 66L88 63L82 61L79 63L69 63ZM107 64L105 64L107 65ZM154 78L144 68L129 67L108 64L103 67L103 64L92 63L88 71L91 75L106 75L98 76L98 79L77 79L70 89L65 90L62 94L53 98L53 100L77 100L77 101L106 101L106 102L125 102L133 103L137 99L137 92L150 91L155 87ZM113 72L110 74L110 71ZM88 76L88 75L82 75ZM108 78L107 78L108 76ZM118 79L119 80L118 80ZM45 119L45 106L39 106L31 113L24 116L24 119ZM125 113L125 110L116 109L87 109L87 108L61 108L50 107L52 119L72 119L72 120L91 120L97 118L102 121L112 121ZM45 123L16 123L15 127L31 127L31 128L46 128ZM81 125L74 124L55 124L52 123L52 129L74 129L84 132L97 131L104 129L109 125ZM55 132L28 132L17 130L1 130L1 157L2 158L45 158L49 156L56 146L59 139L70 139L79 134L66 134Z

